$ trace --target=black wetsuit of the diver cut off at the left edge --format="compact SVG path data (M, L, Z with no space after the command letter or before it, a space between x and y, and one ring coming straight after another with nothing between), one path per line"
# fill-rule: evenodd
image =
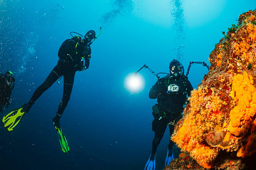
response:
M10 104L11 93L12 89L7 85L4 75L0 73L0 112L5 104Z

